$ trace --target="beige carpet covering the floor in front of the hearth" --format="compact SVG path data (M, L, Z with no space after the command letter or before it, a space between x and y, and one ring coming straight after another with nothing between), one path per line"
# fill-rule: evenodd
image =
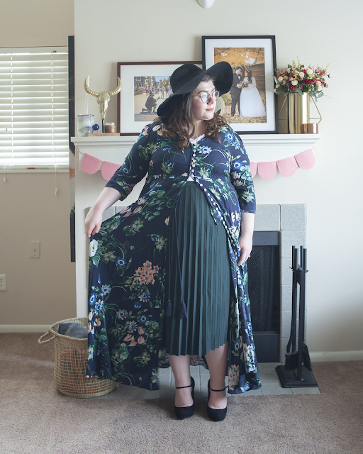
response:
M321 394L228 399L225 421L196 399L174 419L172 399L74 399L55 389L52 345L0 334L1 454L363 453L363 361L313 363Z

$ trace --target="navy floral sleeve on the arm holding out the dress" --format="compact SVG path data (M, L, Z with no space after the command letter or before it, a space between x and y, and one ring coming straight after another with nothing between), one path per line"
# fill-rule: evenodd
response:
M150 161L149 135L152 125L147 125L128 153L123 165L116 170L106 187L113 187L120 192L120 200L125 199L147 174Z

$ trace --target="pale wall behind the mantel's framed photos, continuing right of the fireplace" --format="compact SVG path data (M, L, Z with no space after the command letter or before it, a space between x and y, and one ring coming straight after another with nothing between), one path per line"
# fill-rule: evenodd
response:
M323 121L317 164L290 178L279 173L269 182L255 178L259 204L308 206L307 335L315 358L350 355L342 352L363 358L361 96L354 92L355 81L343 77L348 72L359 77L363 70L356 52L363 11L361 2L349 3L354 8L342 9L338 0L327 7L311 6L310 12L321 14L315 21L293 4L282 11L270 0L216 0L211 9L202 9L197 0L158 0L152 6L144 0L75 1L76 114L84 106L87 74L91 89L108 90L116 86L116 62L201 60L202 35L276 35L277 66L296 57L306 65L330 62L335 78L328 96L318 101ZM95 11L109 12L106 25ZM89 102L97 122L96 101ZM110 101L108 121L116 121L115 100ZM77 213L82 236L83 208L93 203L104 180L79 172L77 184L87 188ZM77 306L85 312L85 241L77 245L77 254Z

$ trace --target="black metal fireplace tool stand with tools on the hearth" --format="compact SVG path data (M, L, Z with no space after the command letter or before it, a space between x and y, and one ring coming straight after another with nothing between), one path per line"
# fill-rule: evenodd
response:
M276 367L277 375L283 388L317 387L318 384L311 373L311 361L308 347L303 342L305 330L305 287L306 287L306 249L300 246L298 264L298 248L292 247L292 316L289 343L286 347L285 365ZM298 284L300 287L297 304ZM298 305L298 350L296 351L296 315Z

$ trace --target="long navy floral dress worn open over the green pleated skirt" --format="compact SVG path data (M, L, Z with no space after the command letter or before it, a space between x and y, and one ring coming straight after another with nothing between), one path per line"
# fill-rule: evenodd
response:
M125 162L106 184L125 199L148 172L140 197L102 223L89 245L88 374L145 389L159 389L157 368L168 367L163 349L168 226L186 184L194 154L194 181L211 216L223 223L230 257L228 392L261 386L247 292L247 265L238 266L241 211L255 213L250 162L228 126L218 140L203 138L177 149L162 123L145 126ZM203 356L191 364L204 365Z

